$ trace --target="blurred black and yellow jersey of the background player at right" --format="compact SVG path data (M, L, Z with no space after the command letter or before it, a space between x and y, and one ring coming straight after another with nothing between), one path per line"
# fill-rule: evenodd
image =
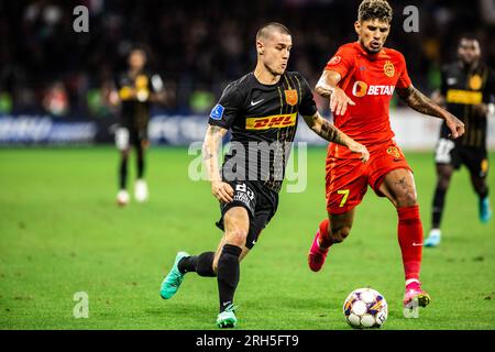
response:
M455 140L455 145L486 148L486 116L480 116L473 107L493 99L494 72L483 64L474 69L464 67L461 62L447 65L441 73L441 94L446 97L447 110L464 123L465 133ZM447 139L449 134L443 122L440 138Z

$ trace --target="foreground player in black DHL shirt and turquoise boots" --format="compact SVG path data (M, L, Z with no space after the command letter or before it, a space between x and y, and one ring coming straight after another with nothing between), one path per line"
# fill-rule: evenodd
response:
M254 72L228 85L212 109L202 157L211 193L220 201L221 218L217 226L223 237L217 252L194 256L177 253L162 283L161 296L169 299L188 272L217 277L219 328L237 324L233 297L240 278L240 261L277 210L287 150L296 134L298 114L323 139L349 147L363 162L370 156L362 144L318 113L306 79L298 73L285 72L292 46L287 28L279 23L263 26L256 34ZM231 148L220 173L218 147L229 129Z

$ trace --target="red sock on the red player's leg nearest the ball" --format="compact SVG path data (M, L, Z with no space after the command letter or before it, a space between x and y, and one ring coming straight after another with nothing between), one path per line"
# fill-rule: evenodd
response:
M398 241L406 280L418 279L422 254L422 224L419 206L398 208Z

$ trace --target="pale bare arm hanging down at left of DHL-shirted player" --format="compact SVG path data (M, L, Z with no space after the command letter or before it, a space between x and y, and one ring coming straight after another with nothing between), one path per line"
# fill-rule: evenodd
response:
M208 125L208 130L202 143L202 160L205 161L208 179L211 182L211 194L220 201L232 201L232 187L222 182L219 166L219 145L228 130L218 125Z

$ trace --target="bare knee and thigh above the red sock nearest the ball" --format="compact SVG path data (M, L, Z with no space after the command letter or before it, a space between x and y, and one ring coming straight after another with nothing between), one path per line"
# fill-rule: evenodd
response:
M378 189L396 208L418 204L415 178L408 168L396 168L387 173Z

